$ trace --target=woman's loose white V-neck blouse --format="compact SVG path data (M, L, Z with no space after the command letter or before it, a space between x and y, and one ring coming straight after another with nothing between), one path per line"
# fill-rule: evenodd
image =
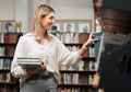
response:
M16 62L20 57L40 58L46 61L47 71L52 72L57 80L60 65L73 65L82 59L78 51L70 51L56 36L49 35L52 39L50 42L45 39L43 45L36 42L32 33L20 37L11 65L11 73L20 78L20 83L29 77L26 70Z

